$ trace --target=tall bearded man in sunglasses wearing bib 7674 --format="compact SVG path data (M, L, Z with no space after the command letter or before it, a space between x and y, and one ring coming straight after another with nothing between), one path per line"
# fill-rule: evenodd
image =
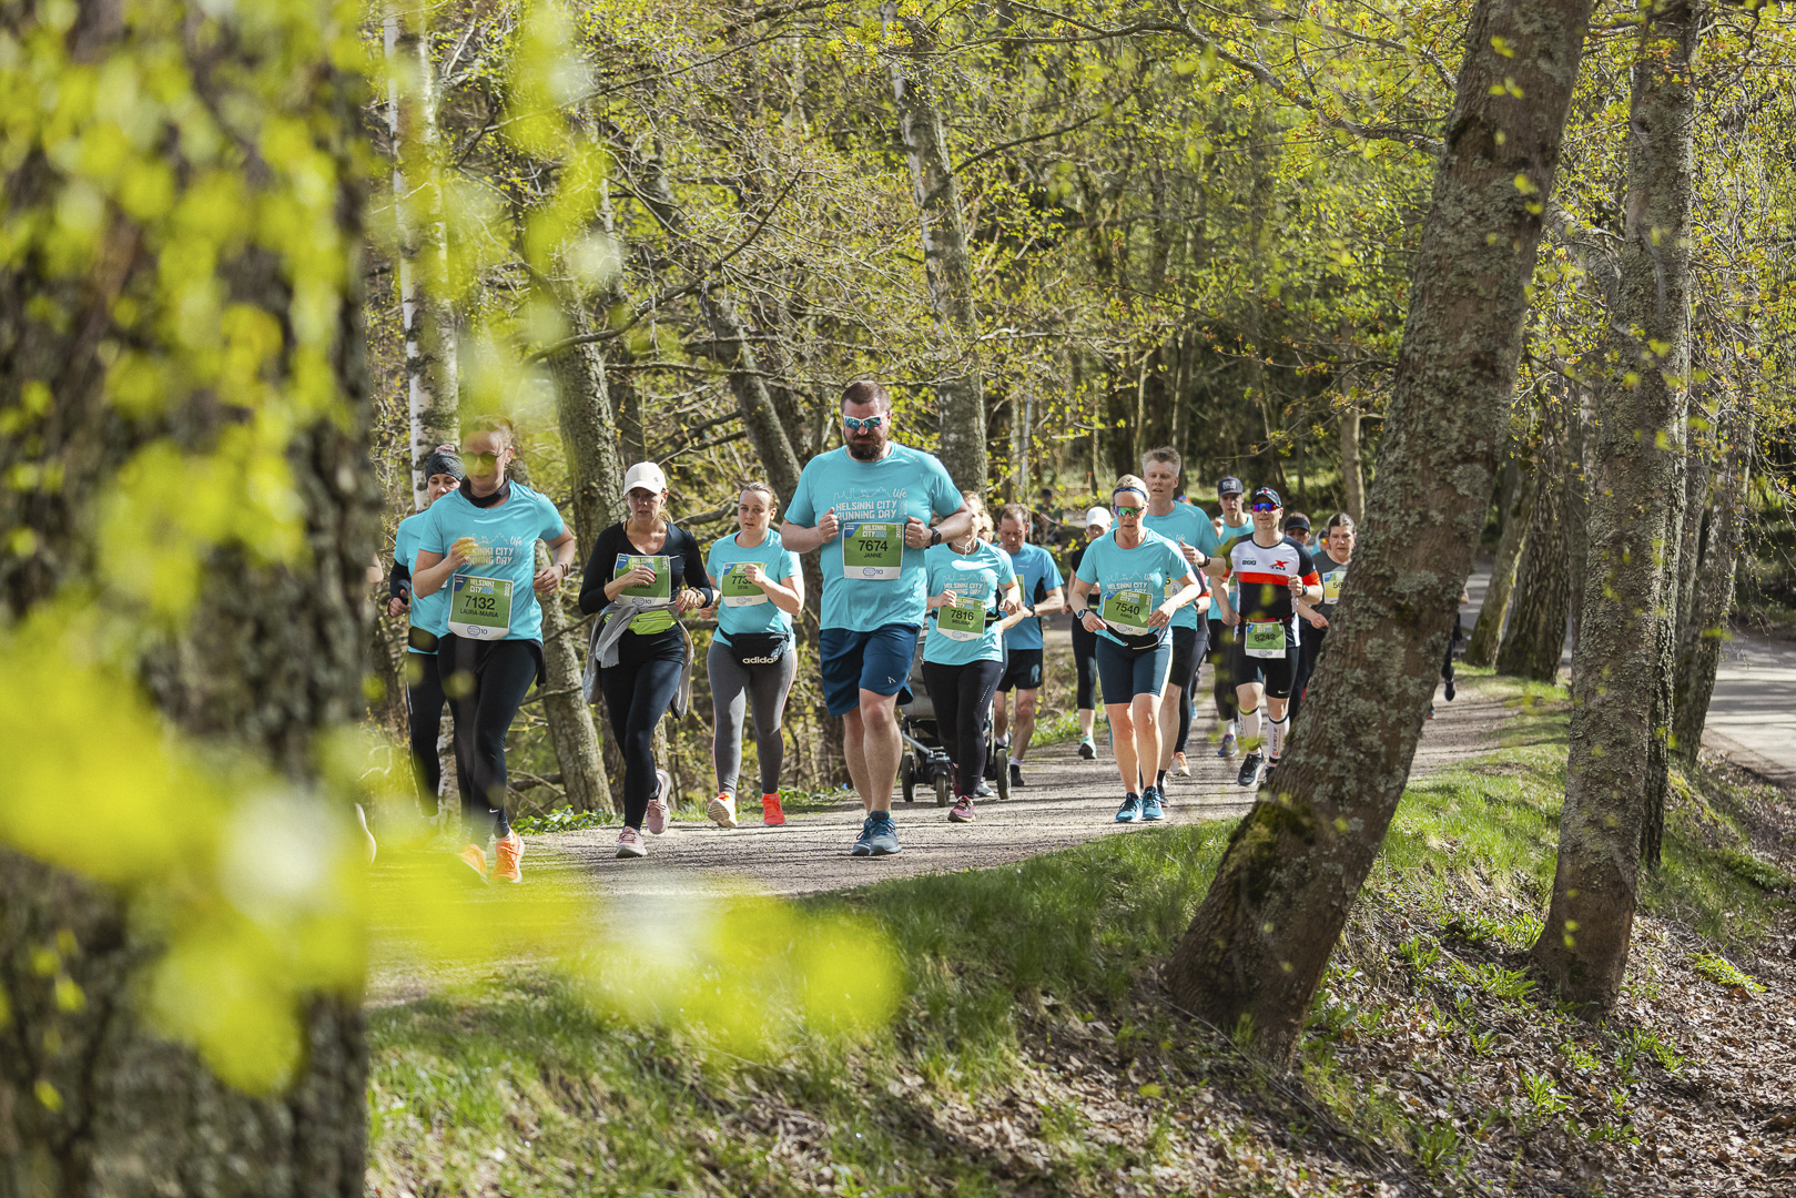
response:
M846 724L842 753L867 812L853 855L885 857L902 851L891 815L898 691L929 598L923 550L964 537L973 517L941 462L893 444L880 383L850 383L841 413L844 445L805 463L779 541L823 550L823 697Z

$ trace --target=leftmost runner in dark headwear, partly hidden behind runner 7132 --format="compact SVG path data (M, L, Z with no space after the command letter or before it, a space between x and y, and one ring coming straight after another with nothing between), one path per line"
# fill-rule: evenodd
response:
M411 744L411 778L426 812L436 812L442 792L444 767L436 756L436 740L444 724L444 683L436 670L436 641L449 632L449 595L417 595L411 571L418 564L418 539L431 507L462 485L467 471L454 445L438 445L424 458L424 508L399 521L393 533L393 573L388 578L392 596L388 616L411 616L406 632L406 724Z

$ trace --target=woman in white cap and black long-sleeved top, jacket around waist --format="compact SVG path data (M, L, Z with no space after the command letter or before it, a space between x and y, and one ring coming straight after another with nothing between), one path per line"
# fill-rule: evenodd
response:
M686 675L682 612L715 600L704 553L684 528L666 521L668 480L654 462L623 474L630 515L598 533L585 564L580 611L607 611L593 652L602 652L598 686L611 715L611 735L623 753L623 832L618 857L647 857L643 830L668 826L674 783L656 767L656 724L666 715ZM618 623L623 621L623 623Z

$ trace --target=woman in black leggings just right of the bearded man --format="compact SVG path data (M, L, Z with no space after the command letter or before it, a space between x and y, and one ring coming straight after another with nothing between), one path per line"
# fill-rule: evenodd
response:
M936 704L936 729L954 760L955 794L948 821L973 821L973 792L986 776L986 713L1004 674L1006 616L1022 611L1009 555L991 544L991 517L966 496L973 526L923 553L929 611L936 625L923 639L923 684Z

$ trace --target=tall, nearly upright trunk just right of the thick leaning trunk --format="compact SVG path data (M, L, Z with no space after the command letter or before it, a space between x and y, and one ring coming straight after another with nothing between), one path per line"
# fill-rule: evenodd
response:
M1559 864L1546 927L1534 945L1536 963L1563 993L1600 1008L1620 993L1634 927L1642 762L1651 754L1672 650L1667 555L1681 533L1677 460L1690 363L1699 16L1694 4L1672 0L1647 22L1629 113L1622 284L1609 320L1616 361L1595 429L1591 575Z

